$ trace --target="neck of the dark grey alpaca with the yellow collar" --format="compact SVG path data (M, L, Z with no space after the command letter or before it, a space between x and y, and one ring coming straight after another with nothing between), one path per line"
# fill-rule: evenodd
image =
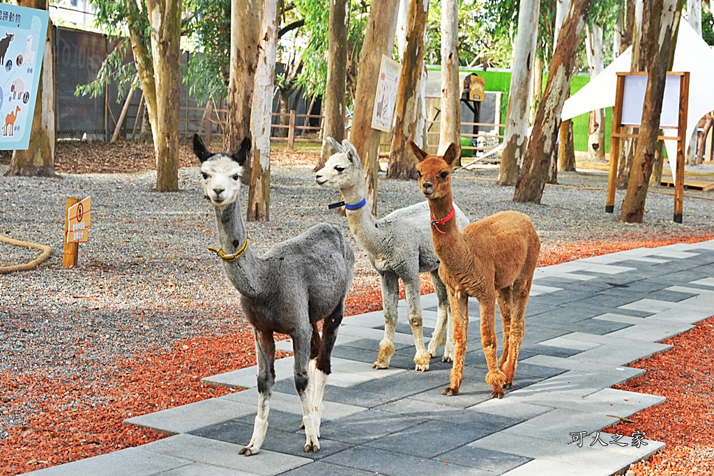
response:
M235 253L245 242L246 227L241 215L241 204L236 200L225 207L214 207L218 223L218 241L225 253ZM248 245L245 253L235 261L223 261L228 280L246 298L255 299L266 289L266 264L260 256L253 253L253 246Z

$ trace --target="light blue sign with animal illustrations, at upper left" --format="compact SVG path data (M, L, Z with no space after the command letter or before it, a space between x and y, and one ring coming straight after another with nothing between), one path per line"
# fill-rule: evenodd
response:
M0 150L30 142L49 13L0 4Z

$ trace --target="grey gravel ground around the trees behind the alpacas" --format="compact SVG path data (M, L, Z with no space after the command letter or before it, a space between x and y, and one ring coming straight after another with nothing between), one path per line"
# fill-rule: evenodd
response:
M0 174L6 169L0 166ZM336 223L356 251L355 288L373 287L376 274L346 220L327 211L338 194L318 188L306 166L273 167L271 178L271 221L247 224L251 245L263 251L319 221ZM472 221L508 209L528 214L544 249L623 236L714 233L712 201L685 198L685 223L678 225L671 221L673 196L650 194L645 223L625 225L603 213L604 189L574 188L604 188L603 174L560 173L563 186L549 186L542 206L514 204L513 188L497 186L494 178L493 169L458 171L458 205ZM54 248L40 268L0 275L0 374L41 371L101 380L101 369L124 356L246 327L236 291L206 250L217 242L216 225L198 168L181 169L178 193L151 191L155 181L154 172L0 178L0 233ZM70 270L61 266L67 196L92 197L89 243L79 246L79 266ZM616 203L623 196L618 192ZM380 215L421 200L413 181L379 183ZM0 266L36 254L0 243ZM22 423L23 415L0 402L0 439L3 427Z

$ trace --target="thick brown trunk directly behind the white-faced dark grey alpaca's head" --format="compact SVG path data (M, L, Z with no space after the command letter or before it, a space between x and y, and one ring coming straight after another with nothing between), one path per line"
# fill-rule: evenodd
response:
M228 153L237 151L243 138L251 133L251 102L260 34L261 2L231 0L231 61L223 134L223 148ZM250 171L243 171L243 184L247 185L250 178Z

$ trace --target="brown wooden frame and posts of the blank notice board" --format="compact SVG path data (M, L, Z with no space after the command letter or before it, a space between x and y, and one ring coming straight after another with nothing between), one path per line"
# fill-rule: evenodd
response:
M610 173L608 176L608 198L605 202L606 213L614 213L615 211L615 186L618 181L620 139L639 137L639 134L628 134L622 132L625 76L642 76L647 74L648 73L643 71L635 73L618 73L618 82L615 86L615 107L613 108L613 130L610 135ZM689 108L689 73L673 73L671 71L668 71L667 76L681 76L679 83L679 121L677 125L677 136L658 136L658 140L677 141L677 173L675 177L673 221L675 221L675 223L682 223L682 213L684 206L684 152L686 146L685 133L687 131L687 113ZM632 125L628 124L628 126Z

